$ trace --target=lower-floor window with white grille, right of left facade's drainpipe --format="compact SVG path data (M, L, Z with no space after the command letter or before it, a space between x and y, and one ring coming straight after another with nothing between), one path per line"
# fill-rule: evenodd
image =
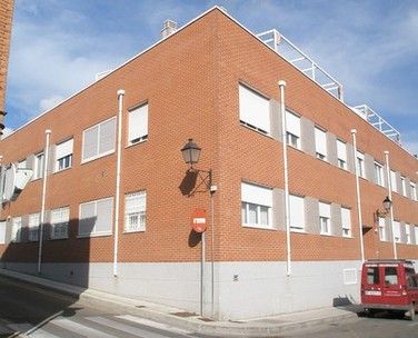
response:
M145 231L147 192L138 191L125 196L125 231Z

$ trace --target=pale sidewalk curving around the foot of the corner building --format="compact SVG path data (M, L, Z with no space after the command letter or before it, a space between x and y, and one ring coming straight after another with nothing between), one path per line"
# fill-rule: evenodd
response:
M187 312L183 309L160 306L98 290L83 289L77 286L11 270L0 269L0 276L14 278L28 282L33 287L40 287L41 289L52 289L67 296L77 297L90 307L111 308L112 310L120 309L130 315L163 322L190 332L219 337L275 337L283 332L306 329L320 324L357 318L356 310L358 310L357 306L340 308L329 307L268 318L213 321L196 314Z

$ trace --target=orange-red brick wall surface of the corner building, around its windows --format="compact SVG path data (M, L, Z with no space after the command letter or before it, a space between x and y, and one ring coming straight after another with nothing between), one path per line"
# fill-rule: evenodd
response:
M74 138L73 167L48 178L47 209L71 207L69 240L44 243L47 261L111 261L113 237L77 239L79 203L115 196L116 155L80 165L82 131L116 116L117 90L125 89L127 109L148 100L149 140L122 150L122 196L147 189L147 231L122 233L123 198L120 212L120 261L197 261L200 245L190 237L195 207L209 210L209 193L181 195L179 186L187 166L180 149L188 138L202 148L199 168L213 169L216 260L285 260L286 233L243 228L240 220L240 182L251 180L282 188L281 143L239 123L238 82L246 81L279 100L278 80L285 79L287 105L347 142L350 129L358 130L358 147L379 160L391 153L392 168L416 178L417 160L376 131L334 97L326 93L256 38L215 10L172 36L94 86L76 95L13 136L3 140L4 161L18 161L43 148L44 129L51 142ZM30 141L28 141L28 139ZM289 149L290 191L335 201L352 208L354 238L292 233L295 260L360 259L354 175ZM360 182L364 222L372 225L386 190ZM3 210L3 217L40 210L41 181L31 182L19 200ZM395 217L418 223L417 202L394 196ZM207 232L210 255L210 230ZM367 257L379 251L391 257L391 243L365 236ZM399 245L399 256L418 258L417 246ZM11 259L37 259L37 243L16 243Z

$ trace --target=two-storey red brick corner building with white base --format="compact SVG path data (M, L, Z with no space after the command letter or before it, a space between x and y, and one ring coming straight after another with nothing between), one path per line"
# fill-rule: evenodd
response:
M181 157L189 138L211 193ZM236 319L358 300L362 259L418 259L417 159L218 8L0 153L33 170L3 203L7 269Z

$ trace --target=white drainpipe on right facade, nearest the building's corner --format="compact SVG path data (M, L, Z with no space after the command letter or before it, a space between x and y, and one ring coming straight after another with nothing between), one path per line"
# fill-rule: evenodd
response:
M286 225L286 256L287 256L287 271L286 275L291 274L291 242L290 242L290 218L289 218L289 172L288 172L288 157L287 157L287 141L286 141L286 105L285 105L285 87L286 81L278 82L280 87L280 110L281 110L281 142L283 147L283 176L285 176L285 225Z

